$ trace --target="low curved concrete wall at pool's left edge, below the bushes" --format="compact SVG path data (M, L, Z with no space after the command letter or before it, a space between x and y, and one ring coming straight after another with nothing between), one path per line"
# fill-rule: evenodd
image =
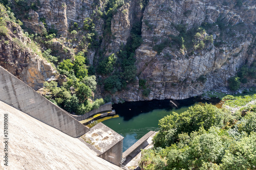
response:
M99 112L104 112L104 111L109 111L109 110L112 110L112 103L111 102L106 103L106 104L100 106L98 109L94 109L94 110L92 110L88 113L85 113L83 115L74 115L74 114L70 114L70 115L73 116L78 121L81 121L81 120L87 119L88 117L90 117L94 114L97 114Z

